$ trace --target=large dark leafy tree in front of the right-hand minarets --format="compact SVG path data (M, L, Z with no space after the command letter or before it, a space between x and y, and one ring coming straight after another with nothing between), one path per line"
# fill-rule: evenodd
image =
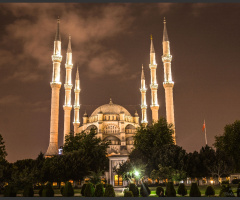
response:
M129 155L131 162L140 158L146 164L148 176L159 164L182 169L186 152L174 145L172 134L172 124L165 118L147 127L141 126L134 136L135 149Z

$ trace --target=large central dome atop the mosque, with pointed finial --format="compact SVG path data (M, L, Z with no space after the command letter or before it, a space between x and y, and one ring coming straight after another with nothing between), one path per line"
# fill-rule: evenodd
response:
M99 112L102 112L103 114L120 114L121 112L123 112L125 115L131 116L131 114L127 111L126 108L114 104L112 102L112 99L110 99L109 104L102 105L98 107L96 110L94 110L91 116L95 116Z

